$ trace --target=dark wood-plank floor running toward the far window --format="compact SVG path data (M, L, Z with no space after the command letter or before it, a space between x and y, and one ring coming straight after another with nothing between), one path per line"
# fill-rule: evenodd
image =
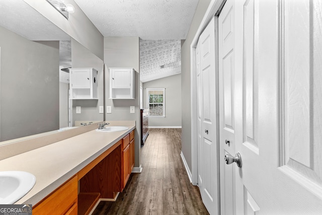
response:
M149 129L141 147L142 173L132 173L115 202L93 214L209 214L181 160L181 129Z

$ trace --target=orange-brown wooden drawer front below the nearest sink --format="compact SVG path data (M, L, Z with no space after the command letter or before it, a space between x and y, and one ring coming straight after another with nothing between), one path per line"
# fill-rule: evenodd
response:
M33 214L64 214L77 208L77 176L49 194L33 208ZM71 213L72 214L72 213Z

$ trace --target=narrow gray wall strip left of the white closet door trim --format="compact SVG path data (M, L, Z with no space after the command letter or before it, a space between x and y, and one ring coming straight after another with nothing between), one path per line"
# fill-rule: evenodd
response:
M210 0L199 0L186 40L181 46L181 91L182 93L182 153L191 171L191 99L190 99L190 45L198 30Z

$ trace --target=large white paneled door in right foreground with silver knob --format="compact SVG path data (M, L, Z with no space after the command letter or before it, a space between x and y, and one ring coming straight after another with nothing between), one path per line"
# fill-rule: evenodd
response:
M320 6L235 1L237 214L322 209Z

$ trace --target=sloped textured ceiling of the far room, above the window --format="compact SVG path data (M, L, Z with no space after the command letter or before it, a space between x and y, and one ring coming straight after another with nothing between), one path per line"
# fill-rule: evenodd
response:
M148 82L180 73L180 40L140 40L141 82Z

